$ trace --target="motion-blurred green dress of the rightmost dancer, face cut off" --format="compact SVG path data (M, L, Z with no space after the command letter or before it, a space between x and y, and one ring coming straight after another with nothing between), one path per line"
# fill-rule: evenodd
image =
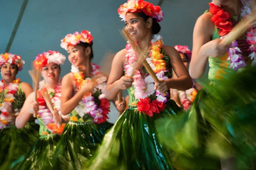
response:
M240 17L231 20L237 24ZM212 39L216 38L220 36L215 27ZM248 56L246 35L237 42L243 56ZM157 122L161 141L175 152L170 159L177 169L221 169L220 161L232 157L237 169L253 169L255 68L234 72L227 58L228 53L209 57L211 83L198 91L190 111L168 123Z

